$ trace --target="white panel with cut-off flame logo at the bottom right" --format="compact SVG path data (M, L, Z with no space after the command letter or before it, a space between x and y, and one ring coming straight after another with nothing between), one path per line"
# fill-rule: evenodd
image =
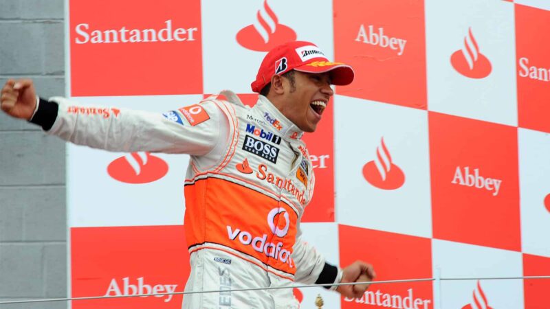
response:
M522 276L519 252L434 239L432 257L434 272L445 278ZM521 280L443 281L441 303L443 308L522 309L522 285Z

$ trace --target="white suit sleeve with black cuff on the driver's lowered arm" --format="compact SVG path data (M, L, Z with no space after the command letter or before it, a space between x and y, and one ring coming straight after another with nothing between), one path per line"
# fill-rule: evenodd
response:
M296 264L294 279L297 282L303 284L333 284L340 283L342 279L342 270L325 262L325 258L300 236L294 244L292 258ZM325 288L336 290L336 287L326 286Z

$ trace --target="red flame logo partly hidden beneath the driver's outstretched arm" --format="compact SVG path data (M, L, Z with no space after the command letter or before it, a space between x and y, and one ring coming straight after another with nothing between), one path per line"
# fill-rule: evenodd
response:
M122 183L151 183L164 177L168 164L148 152L132 152L112 161L107 173Z

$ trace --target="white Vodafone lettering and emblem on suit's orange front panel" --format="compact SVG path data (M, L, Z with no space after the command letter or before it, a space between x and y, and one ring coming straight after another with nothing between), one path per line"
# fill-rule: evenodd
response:
M281 218L281 216L284 217ZM282 229L279 227L279 222L285 220L285 227ZM290 225L290 220L288 213L283 208L274 208L267 215L267 225L269 225L272 233L278 237L283 238L287 235ZM233 229L230 225L227 226L228 229L228 238L230 240L236 241L239 238L239 242L245 246L252 246L254 251L265 254L265 256L274 258L283 263L287 263L290 268L294 268L294 261L290 258L292 251L289 249L283 248L283 242L267 242L267 239L274 240L272 236L267 236L264 233L261 236L253 236L252 233L248 231L241 231L241 229Z

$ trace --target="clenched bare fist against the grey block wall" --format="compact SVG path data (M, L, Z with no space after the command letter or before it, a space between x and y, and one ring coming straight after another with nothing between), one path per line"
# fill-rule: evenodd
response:
M36 108L36 91L32 80L8 80L2 88L2 111L16 118L30 120Z

